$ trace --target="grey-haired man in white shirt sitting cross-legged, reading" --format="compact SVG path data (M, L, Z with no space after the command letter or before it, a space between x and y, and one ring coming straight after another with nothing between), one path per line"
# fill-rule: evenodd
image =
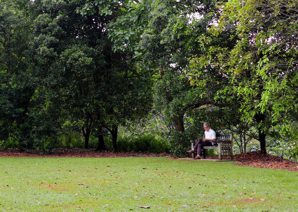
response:
M214 146L214 142L216 141L216 133L212 130L208 123L204 123L205 129L205 138L198 139L197 143L193 147L193 149L188 150L188 153L194 153L197 149L197 156L194 159L201 159L201 150L203 146Z

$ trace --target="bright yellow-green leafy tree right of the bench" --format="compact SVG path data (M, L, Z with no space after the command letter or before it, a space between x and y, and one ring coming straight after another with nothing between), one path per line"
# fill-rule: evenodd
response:
M297 135L297 1L228 1L212 33L232 32L232 49L218 46L201 57L229 77L221 94L239 97L242 120L257 122L261 152L266 134ZM212 59L213 58L213 59Z

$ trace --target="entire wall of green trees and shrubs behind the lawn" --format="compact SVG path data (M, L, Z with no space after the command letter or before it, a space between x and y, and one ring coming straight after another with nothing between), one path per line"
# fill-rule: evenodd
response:
M105 128L117 150L119 128L122 151L182 156L209 122L237 152L257 139L297 159L295 142L270 140L297 140L297 5L1 1L1 148L83 147Z

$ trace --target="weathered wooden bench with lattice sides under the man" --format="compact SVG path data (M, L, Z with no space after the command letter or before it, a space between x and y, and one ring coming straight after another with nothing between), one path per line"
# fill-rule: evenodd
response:
M205 135L204 135L205 138ZM195 146L196 140L191 140L191 148ZM218 145L218 146L216 146ZM216 134L216 142L214 146L203 146L202 155L206 158L206 149L218 149L219 160L223 159L223 156L229 156L230 160L233 160L233 134L223 135ZM192 154L192 158L194 155Z

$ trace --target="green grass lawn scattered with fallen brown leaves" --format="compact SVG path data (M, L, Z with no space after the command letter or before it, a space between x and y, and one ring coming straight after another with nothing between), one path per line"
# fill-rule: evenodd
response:
M0 160L0 211L298 211L295 171L153 157Z

